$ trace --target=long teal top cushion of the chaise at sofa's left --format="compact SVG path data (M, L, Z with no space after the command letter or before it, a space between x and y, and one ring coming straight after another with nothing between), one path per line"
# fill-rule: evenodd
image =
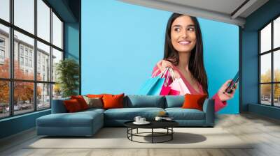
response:
M41 127L90 127L94 120L103 116L99 111L80 111L76 113L49 114L37 118L37 126ZM99 122L103 123L103 120Z

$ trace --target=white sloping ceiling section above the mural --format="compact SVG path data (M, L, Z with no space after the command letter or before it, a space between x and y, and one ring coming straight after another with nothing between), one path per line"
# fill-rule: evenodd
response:
M120 0L148 8L188 14L209 20L244 26L251 15L268 0Z

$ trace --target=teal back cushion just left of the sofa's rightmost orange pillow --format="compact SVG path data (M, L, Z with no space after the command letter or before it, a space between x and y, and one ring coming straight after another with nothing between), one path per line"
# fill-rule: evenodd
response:
M185 96L167 95L165 96L165 99L165 108L182 107L183 102L185 101Z

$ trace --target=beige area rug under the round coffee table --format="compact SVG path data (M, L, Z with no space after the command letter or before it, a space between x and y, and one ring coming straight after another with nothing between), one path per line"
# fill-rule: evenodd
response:
M151 132L141 129L139 132ZM162 132L158 130L157 132ZM136 130L134 131L136 132ZM39 149L88 149L88 148L252 148L246 143L221 128L174 128L172 141L166 143L137 143L127 139L124 127L105 127L93 137L40 137L25 148ZM149 134L147 134L149 135ZM134 137L136 141L151 141L151 137ZM163 141L157 137L155 141Z

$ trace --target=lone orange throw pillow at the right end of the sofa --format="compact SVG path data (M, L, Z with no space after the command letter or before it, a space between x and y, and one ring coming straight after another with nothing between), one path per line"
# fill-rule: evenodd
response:
M206 94L202 95L194 95L194 94L186 94L185 101L183 103L183 109L199 109L202 111L203 102L207 98Z

